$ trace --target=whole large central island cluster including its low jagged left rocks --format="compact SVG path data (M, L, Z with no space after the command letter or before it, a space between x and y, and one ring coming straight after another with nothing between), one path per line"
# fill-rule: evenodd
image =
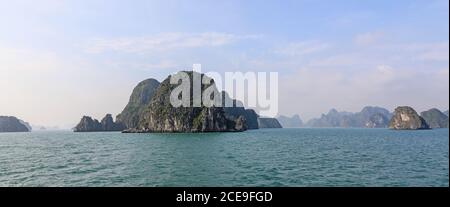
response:
M183 72L188 73L191 77L194 73L192 71ZM204 74L201 75L204 76ZM259 115L252 109L245 109L237 100L232 100L233 107L173 107L170 104L170 93L177 85L170 84L170 77L161 83L155 79L140 82L133 89L124 110L117 115L116 121L112 119L111 115L107 115L103 119L106 119L106 122L99 122L89 116L84 116L74 131L241 132L260 128ZM214 81L209 85L203 84L202 92L213 83ZM230 99L226 92L222 92L221 95L223 103ZM111 127L107 127L105 123ZM265 127L281 128L281 125L265 125Z

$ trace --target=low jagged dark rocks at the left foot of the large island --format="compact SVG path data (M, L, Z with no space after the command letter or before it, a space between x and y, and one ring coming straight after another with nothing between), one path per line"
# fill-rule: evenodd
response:
M122 123L114 122L111 114L107 114L101 122L89 116L83 116L80 123L75 126L74 132L122 131L124 129L125 126Z

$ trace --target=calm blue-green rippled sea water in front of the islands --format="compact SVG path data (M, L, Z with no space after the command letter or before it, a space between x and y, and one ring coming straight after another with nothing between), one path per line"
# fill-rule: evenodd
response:
M449 132L0 134L0 186L449 186Z

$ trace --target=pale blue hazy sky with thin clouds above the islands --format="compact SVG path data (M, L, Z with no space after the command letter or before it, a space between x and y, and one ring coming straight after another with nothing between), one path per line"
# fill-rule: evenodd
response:
M280 113L449 106L448 0L0 0L0 115L72 127L201 63L278 71Z

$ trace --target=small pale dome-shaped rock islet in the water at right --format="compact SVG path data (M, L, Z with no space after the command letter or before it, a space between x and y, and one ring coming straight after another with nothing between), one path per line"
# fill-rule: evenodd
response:
M429 129L426 121L417 112L408 106L397 107L389 123L390 129L418 130Z

